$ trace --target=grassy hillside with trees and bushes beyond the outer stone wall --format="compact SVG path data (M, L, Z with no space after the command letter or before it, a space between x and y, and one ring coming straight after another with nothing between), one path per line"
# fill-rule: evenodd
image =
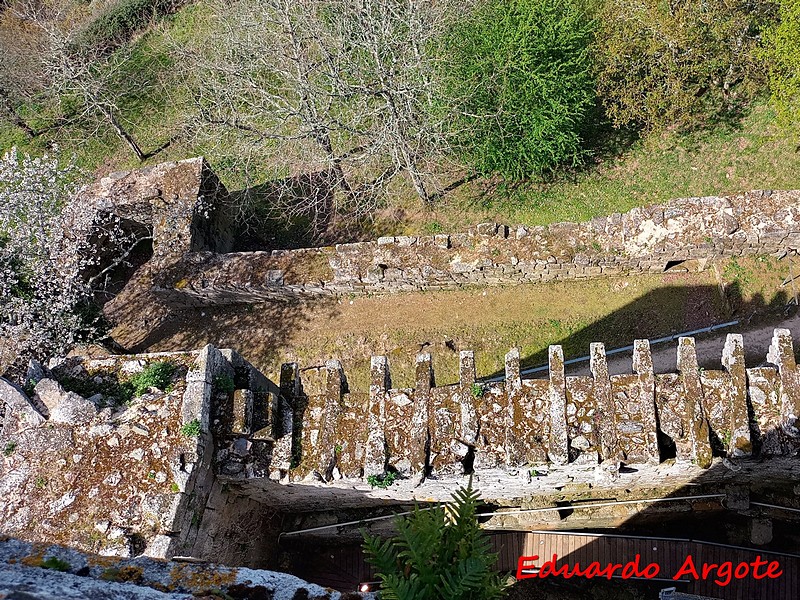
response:
M243 247L797 187L797 0L10 0L0 149L202 154Z

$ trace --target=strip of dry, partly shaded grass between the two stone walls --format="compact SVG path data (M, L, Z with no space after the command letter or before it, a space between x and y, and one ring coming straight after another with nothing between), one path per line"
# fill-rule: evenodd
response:
M550 344L562 344L569 359L586 355L591 342L612 349L781 313L787 273L785 261L764 257L700 273L193 309L175 315L158 340L151 336L148 349L231 347L276 378L282 362L306 368L336 358L360 391L369 387L373 354L389 357L395 387L413 387L414 359L425 351L443 385L457 381L458 350L475 351L480 377L502 373L512 346L524 366L539 366ZM140 333L123 324L115 339L132 345Z

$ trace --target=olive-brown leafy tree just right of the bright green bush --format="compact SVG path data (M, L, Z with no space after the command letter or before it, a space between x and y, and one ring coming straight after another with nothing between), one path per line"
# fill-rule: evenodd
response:
M735 116L763 85L767 0L600 0L598 93L617 126L698 127Z

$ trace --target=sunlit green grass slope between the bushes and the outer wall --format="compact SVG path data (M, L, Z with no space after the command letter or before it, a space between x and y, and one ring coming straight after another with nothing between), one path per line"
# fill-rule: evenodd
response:
M481 221L545 225L585 221L671 198L720 196L800 187L797 137L757 104L738 127L639 140L624 154L598 160L573 177L503 188L476 180L432 211L406 208L406 233L457 231Z

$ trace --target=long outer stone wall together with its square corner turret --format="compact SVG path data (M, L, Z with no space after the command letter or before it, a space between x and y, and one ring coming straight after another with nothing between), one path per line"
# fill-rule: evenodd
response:
M702 269L708 260L800 247L798 190L677 199L584 223L482 223L458 234L272 252L230 252L228 194L202 158L114 173L84 194L152 232L153 259L129 287L174 307L587 279L680 263Z

